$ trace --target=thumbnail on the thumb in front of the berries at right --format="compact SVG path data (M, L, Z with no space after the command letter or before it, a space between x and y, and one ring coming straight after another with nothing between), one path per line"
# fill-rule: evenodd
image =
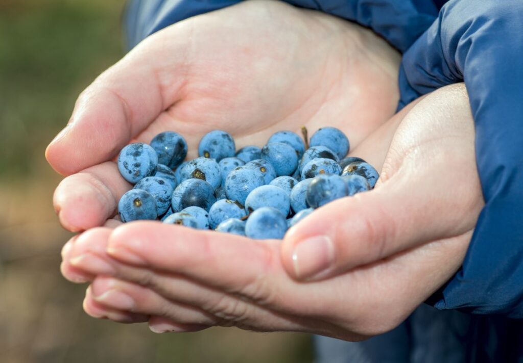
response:
M300 242L292 252L294 273L310 278L325 271L334 261L334 245L327 236L315 236Z

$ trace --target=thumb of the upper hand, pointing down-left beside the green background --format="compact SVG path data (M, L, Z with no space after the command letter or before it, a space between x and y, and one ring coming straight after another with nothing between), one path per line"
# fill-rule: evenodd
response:
M46 150L56 171L69 175L112 159L178 99L190 44L185 28L177 27L168 49L158 41L165 32L147 38L82 92L69 124Z

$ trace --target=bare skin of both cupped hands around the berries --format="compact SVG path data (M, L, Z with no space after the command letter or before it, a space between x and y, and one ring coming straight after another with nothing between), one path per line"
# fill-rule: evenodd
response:
M85 311L148 321L155 332L221 325L358 340L393 329L457 271L483 204L462 86L384 123L397 101L398 61L382 40L336 18L245 2L155 34L100 76L47 152L56 170L76 173L55 192L62 224L90 228L66 243L61 266L66 278L90 283ZM108 160L131 138L179 130L195 153L212 128L231 132L241 147L302 124L345 131L356 146L351 155L382 170L377 188L318 209L283 242L111 220L130 186ZM73 145L77 153L64 154ZM355 227L347 230L349 217ZM297 281L315 261L300 260L297 270L295 250L325 235L336 251L332 265Z

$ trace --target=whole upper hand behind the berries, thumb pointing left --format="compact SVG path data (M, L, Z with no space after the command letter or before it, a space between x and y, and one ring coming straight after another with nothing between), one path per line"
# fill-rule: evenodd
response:
M356 146L390 118L400 56L369 30L272 1L249 1L170 26L144 40L78 98L47 149L71 175L55 210L71 231L102 226L131 188L111 160L133 140L172 130L189 155L205 133L237 147L279 130L335 126Z

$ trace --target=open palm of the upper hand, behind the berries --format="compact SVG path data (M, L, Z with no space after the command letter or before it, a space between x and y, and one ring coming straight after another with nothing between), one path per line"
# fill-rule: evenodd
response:
M179 38L191 41L169 44ZM223 128L243 146L276 130L333 125L357 144L395 108L397 54L369 31L312 11L245 3L174 25L141 51L158 43L163 62L185 54L187 76L176 103L139 136L145 141L168 129L194 146ZM177 71L163 72L168 89Z

